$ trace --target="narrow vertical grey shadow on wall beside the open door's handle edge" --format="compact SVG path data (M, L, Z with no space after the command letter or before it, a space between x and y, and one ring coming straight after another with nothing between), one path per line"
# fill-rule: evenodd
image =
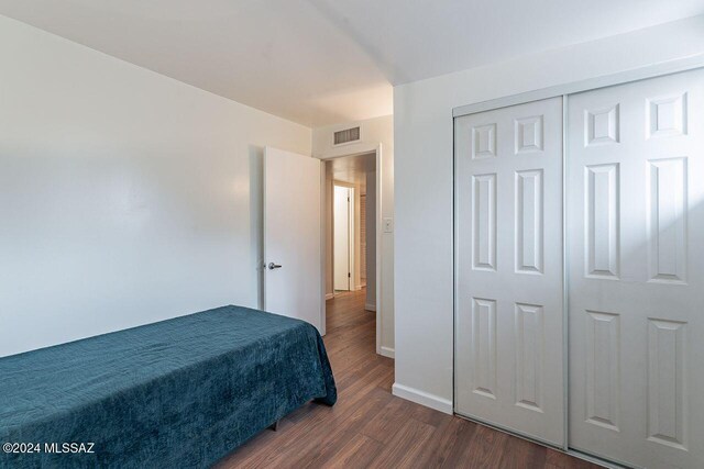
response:
M264 306L264 147L250 145L250 239L256 280L256 306Z

